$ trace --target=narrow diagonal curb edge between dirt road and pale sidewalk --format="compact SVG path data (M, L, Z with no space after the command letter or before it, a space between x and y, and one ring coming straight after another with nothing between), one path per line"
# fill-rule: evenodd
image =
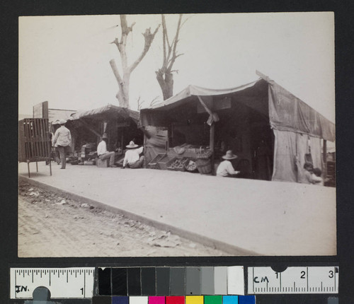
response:
M123 216L126 216L127 218L130 218L134 221L139 221L141 223L147 224L149 226L153 226L154 228L160 229L160 230L166 230L166 231L171 231L171 233L179 235L181 238L186 238L188 240L191 240L193 242L198 242L202 245L206 245L209 247L213 247L217 250L222 250L224 252L229 253L230 255L233 256L261 256L261 254L257 252L252 252L251 250L245 250L241 247L237 247L234 245L229 245L226 242L220 242L218 240L214 240L212 238L207 238L203 235L199 235L198 233L193 233L188 230L183 230L181 228L177 228L175 226L170 226L169 224L166 223L161 223L159 221L154 221L150 218L146 218L144 216L139 216L137 214L133 214L129 211L125 211L123 209L115 208L113 206L109 206L107 204L103 204L101 201L96 201L93 199L90 199L89 197L84 197L79 194L74 194L72 192L69 192L64 189L60 189L58 187L53 187L50 185L47 185L43 182L38 182L37 180L33 180L29 177L25 177L23 175L18 175L18 181L23 180L25 182L28 182L29 184L40 187L42 189L45 189L50 192L54 192L56 194L66 196L69 199L73 199L76 201L84 201L86 204L90 204L92 206L100 207L106 210L109 210L115 214L122 214Z

